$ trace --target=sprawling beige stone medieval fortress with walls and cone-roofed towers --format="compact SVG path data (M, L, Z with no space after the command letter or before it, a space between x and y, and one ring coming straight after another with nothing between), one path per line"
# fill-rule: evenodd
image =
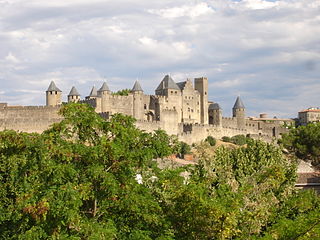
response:
M0 103L0 130L44 131L62 119L58 115L61 93L51 82L46 91L46 106ZM209 135L221 138L238 134L270 141L286 132L286 125L293 124L291 119L267 118L265 114L259 118L246 117L240 97L232 108L232 117L223 117L219 104L208 101L208 79L205 77L175 83L166 75L155 95L145 95L138 81L127 96L112 93L107 83L103 83L99 90L93 87L89 96L81 100L77 89L72 87L68 102L87 103L105 118L114 113L133 116L138 128L148 132L160 128L187 143L201 141Z

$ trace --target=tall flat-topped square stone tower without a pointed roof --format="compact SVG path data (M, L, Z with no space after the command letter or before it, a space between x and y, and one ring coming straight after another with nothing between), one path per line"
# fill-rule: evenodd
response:
M200 93L200 120L202 124L208 124L208 78L194 79L194 89Z

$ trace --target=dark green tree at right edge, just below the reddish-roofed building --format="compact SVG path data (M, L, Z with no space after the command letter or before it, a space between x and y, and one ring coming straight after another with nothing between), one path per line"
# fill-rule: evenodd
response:
M290 152L304 160L320 165L320 123L292 128L282 136L281 143Z

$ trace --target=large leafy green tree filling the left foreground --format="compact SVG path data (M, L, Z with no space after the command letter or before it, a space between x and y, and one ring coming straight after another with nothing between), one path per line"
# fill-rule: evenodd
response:
M152 165L159 134L116 114L68 104L43 134L0 133L2 239L157 239L170 227L135 180ZM164 133L161 135L164 138ZM163 142L162 144L166 144Z

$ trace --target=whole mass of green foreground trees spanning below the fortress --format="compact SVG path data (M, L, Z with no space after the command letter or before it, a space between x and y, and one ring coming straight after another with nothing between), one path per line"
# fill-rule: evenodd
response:
M319 198L293 189L273 145L199 145L195 167L160 170L177 149L165 132L81 104L61 114L43 134L0 133L0 239L320 238Z

